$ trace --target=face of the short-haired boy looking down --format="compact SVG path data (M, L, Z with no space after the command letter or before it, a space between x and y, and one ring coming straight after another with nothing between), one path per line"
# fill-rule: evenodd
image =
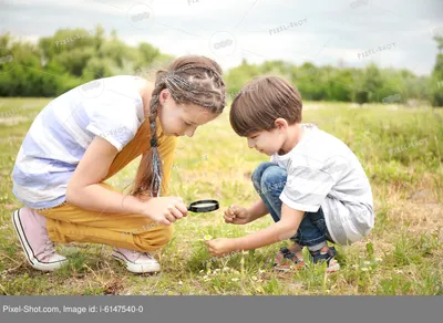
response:
M255 148L259 153L271 156L280 150L285 143L281 131L278 128L271 131L260 131L247 136L249 148Z

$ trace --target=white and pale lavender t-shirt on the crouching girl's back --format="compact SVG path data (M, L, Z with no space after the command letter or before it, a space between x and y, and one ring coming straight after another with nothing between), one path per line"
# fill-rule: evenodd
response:
M141 79L104 77L51 101L33 121L12 170L12 191L25 206L52 208L95 136L121 152L144 121Z

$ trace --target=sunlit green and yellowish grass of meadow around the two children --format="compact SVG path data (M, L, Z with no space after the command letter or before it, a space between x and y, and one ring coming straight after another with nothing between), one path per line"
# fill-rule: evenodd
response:
M443 111L306 104L305 122L351 147L374 196L374 229L364 240L338 248L342 270L332 274L321 265L272 272L271 260L285 242L222 259L208 254L205 235L239 237L271 223L270 217L246 226L223 221L230 204L257 199L250 174L267 160L235 135L226 112L194 138L179 139L171 191L187 201L216 198L220 210L176 222L171 243L155 253L162 272L134 275L110 258L111 247L100 244L59 244L70 262L53 273L25 262L10 221L20 207L10 174L23 136L48 102L0 98L0 294L443 294ZM137 163L109 183L126 187Z

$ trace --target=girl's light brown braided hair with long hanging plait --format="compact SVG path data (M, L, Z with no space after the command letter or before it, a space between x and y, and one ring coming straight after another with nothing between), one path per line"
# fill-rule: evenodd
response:
M150 102L148 122L151 127L151 154L142 159L132 195L151 197L161 196L162 162L158 152L157 114L159 94L167 88L177 104L195 104L207 108L210 113L222 113L225 107L225 82L222 69L213 60L205 56L182 56L168 66L167 71L156 73L155 88Z

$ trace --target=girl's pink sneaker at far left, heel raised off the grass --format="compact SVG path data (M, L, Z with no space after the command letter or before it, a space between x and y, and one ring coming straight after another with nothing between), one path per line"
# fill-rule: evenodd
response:
M24 207L12 213L12 226L28 262L38 270L53 271L68 263L68 259L55 252L54 242L49 239L47 218Z

